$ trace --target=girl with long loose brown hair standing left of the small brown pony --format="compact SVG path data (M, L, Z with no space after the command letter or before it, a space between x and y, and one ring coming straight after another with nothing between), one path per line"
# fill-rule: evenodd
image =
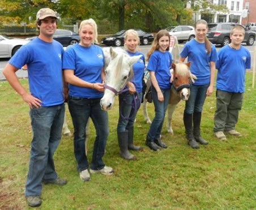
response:
M159 31L147 54L150 79L152 82L152 98L155 106L155 118L152 121L150 130L147 133L146 145L153 151L158 151L160 147L167 148L161 142L160 135L164 123L164 115L170 97L170 65L172 55L169 52L170 35L168 31Z

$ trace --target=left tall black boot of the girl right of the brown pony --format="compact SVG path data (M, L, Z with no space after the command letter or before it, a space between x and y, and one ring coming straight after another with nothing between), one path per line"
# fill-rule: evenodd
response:
M184 112L183 115L183 121L184 121L184 126L185 126L185 132L186 132L186 138L188 141L188 144L190 147L193 149L199 149L198 143L194 139L193 135L193 128L192 128L192 114L187 114Z

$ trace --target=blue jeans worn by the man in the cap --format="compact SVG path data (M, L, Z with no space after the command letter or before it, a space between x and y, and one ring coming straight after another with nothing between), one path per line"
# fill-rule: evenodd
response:
M53 154L62 135L64 104L33 108L30 110L33 139L25 196L41 195L42 181L54 181L55 172Z

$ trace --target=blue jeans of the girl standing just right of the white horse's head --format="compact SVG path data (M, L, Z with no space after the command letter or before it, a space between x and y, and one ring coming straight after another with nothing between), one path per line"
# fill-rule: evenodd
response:
M124 98L125 97L125 98ZM134 100L134 95L130 95L129 93L119 95L119 112L122 112L123 117L128 119L123 119L119 117L118 124L117 124L117 132L124 132L129 127L133 127L134 120L136 117L136 113L140 107L140 101L142 101L142 93L138 93L138 97L136 98L136 110L132 104ZM125 99L125 101L123 101Z

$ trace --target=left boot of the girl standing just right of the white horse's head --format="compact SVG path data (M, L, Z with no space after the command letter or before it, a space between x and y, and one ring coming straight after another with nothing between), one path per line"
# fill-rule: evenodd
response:
M122 158L125 158L126 160L135 160L136 157L128 150L128 131L117 132L117 139Z

